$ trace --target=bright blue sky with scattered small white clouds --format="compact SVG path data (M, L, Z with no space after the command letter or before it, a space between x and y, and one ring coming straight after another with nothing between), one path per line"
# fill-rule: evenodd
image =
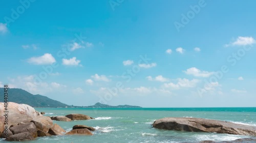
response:
M255 106L255 4L2 1L0 87L81 106Z

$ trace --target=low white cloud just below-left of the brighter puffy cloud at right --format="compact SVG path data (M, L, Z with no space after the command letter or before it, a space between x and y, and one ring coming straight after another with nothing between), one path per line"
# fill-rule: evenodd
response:
M198 79L188 80L186 78L178 78L178 82L175 84L173 82L164 83L165 88L172 88L172 89L180 89L184 88L194 88L196 87L197 83L199 82Z

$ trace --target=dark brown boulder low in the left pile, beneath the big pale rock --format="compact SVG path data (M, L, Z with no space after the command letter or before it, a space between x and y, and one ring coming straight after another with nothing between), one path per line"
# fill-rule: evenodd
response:
M9 129L14 135L29 132L33 137L37 137L37 129L34 123L26 123L23 125L11 127Z

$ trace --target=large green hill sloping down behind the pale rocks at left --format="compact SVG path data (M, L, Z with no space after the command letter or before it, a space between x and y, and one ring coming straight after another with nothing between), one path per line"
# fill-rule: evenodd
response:
M4 89L0 88L0 94L3 94ZM33 95L22 89L9 89L8 90L8 101L19 104L28 104L32 107L70 107L67 104L61 103L56 100L52 100L46 96ZM0 98L0 102L4 102L4 96Z

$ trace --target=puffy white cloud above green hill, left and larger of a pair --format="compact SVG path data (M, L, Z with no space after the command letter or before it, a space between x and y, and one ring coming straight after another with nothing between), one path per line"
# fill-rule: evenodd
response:
M28 63L34 64L34 65L51 65L55 63L56 60L50 53L45 53L42 56L32 57L28 59Z

